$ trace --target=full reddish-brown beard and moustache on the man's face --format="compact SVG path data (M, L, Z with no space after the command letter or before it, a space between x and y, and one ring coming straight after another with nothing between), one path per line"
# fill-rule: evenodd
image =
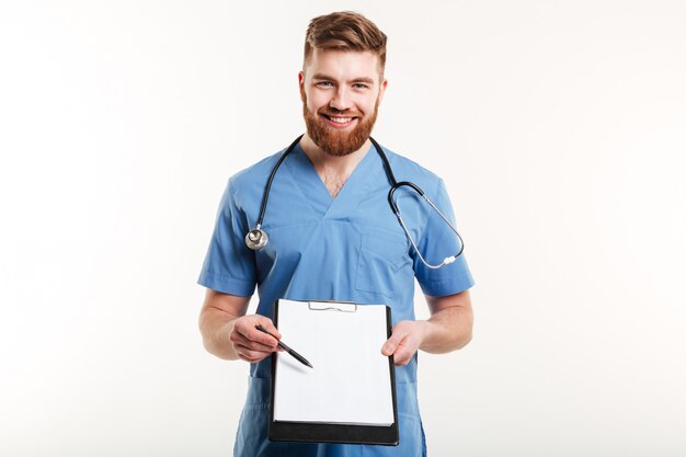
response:
M319 146L321 150L329 156L334 157L348 156L362 148L371 134L378 111L378 98L374 104L374 113L371 113L368 117L363 117L362 113L356 111L340 111L327 106L319 108L317 114L312 114L307 108L307 95L304 95L302 100L302 116L305 117L307 134L312 141L315 141L315 145ZM329 117L355 117L357 121L353 122L356 122L357 125L352 129L352 132L336 130L329 126L329 124L320 117L320 114Z

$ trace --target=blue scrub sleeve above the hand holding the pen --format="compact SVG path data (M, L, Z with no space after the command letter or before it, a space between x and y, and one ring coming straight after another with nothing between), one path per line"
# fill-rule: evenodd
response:
M255 256L244 242L245 214L237 202L231 180L221 197L199 285L225 294L250 297L255 289Z

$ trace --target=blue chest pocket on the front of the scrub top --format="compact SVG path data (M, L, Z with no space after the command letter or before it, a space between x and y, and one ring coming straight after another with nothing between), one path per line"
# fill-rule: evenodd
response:
M403 237L382 231L362 236L355 288L392 298L400 271L410 264Z

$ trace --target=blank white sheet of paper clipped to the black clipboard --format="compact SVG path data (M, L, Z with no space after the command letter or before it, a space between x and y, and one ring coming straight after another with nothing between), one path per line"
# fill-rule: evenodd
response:
M311 310L307 301L278 301L283 341L313 368L286 352L276 355L274 420L365 425L393 423L386 307L355 312Z

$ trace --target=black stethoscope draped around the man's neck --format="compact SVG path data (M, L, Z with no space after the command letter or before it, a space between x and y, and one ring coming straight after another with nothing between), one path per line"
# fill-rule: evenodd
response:
M270 179L266 182L266 187L264 188L264 195L262 195L262 206L260 207L260 216L258 217L258 222L255 224L255 228L253 228L252 230L250 230L248 232L248 235L245 235L245 244L248 245L248 248L250 248L250 249L252 249L254 251L264 248L266 245L268 239L270 239L270 237L267 237L266 232L264 230L262 230L262 221L264 220L264 212L266 210L266 202L270 199L270 191L272 190L272 182L274 181L274 175L276 174L276 170L278 170L278 168L284 162L286 157L288 157L288 155L295 149L295 147L298 144L298 141L300 141L300 138L302 138L302 135L297 137L295 139L295 141L293 141L290 144L290 146L288 146L288 149L286 149L286 152L284 152L278 158L278 161L276 162L276 164L272 169L272 173L270 174ZM393 175L393 171L390 168L390 163L388 162L388 158L386 157L386 153L384 153L384 149L381 149L379 144L376 142L376 140L374 138L369 137L369 140L371 141L371 144L376 148L376 151L379 153L379 157L381 158L381 161L384 162L384 169L386 170L386 174L388 175L388 179L391 182L391 187L390 187L390 191L388 192L388 204L390 205L391 209L393 210L393 214L396 215L396 217L398 217L398 221L400 222L400 226L404 230L405 236L410 240L410 243L412 243L412 248L414 248L414 251L419 255L420 260L424 263L424 265L426 265L430 269L439 269L442 266L445 266L445 265L448 265L448 264L455 262L457 260L457 258L465 250L465 243L462 242L462 237L460 237L460 235L458 233L457 229L443 215L443 213L441 213L441 210L436 207L436 205L434 205L433 202L430 201L428 197L426 197L426 195L424 194L424 191L422 191L420 188L420 186L418 186L416 184L411 183L409 181L401 181L401 182L396 181L396 176ZM404 221L402 220L402 217L400 216L400 209L398 208L398 205L397 205L396 201L393 199L393 194L396 193L396 191L398 188L400 188L400 187L405 187L405 186L412 188L414 192L416 192L419 195L421 195L426 201L426 203L428 203L431 205L431 207L434 208L434 210L436 213L438 213L441 218L448 225L448 227L450 227L450 229L453 229L455 235L457 235L457 238L459 239L459 242L460 242L460 250L457 252L457 254L445 258L443 260L443 262L441 262L437 265L431 265L431 264L428 264L424 260L424 256L422 256L422 253L420 252L419 248L416 247L416 243L414 242L414 239L412 238L412 235L410 235L410 231L408 230L408 227L405 226Z

